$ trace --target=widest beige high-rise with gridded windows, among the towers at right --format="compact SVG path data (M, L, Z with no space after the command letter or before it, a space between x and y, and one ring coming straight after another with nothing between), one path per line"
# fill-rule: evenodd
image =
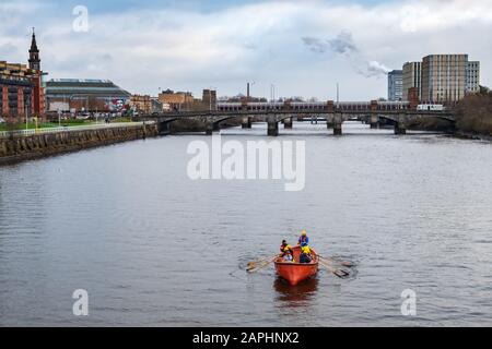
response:
M425 103L457 103L467 91L468 55L431 55L422 61L422 96Z

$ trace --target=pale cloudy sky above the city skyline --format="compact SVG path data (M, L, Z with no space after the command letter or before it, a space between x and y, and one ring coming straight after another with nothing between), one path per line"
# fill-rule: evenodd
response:
M0 60L27 60L33 26L51 79L131 93L236 95L249 81L326 100L339 82L341 99L368 100L388 70L445 52L480 60L492 85L492 0L0 0Z

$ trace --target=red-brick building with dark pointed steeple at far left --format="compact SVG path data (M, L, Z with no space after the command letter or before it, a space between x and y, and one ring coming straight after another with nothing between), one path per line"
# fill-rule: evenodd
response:
M11 122L45 116L43 72L34 32L28 63L0 61L0 116Z

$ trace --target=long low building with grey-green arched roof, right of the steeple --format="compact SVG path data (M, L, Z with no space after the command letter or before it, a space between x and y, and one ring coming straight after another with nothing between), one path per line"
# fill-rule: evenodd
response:
M130 97L109 80L56 79L46 83L49 111L119 112Z

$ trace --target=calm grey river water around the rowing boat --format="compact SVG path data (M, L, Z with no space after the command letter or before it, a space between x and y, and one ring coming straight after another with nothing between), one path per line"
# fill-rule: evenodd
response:
M304 191L191 181L194 140L129 142L0 168L2 326L492 325L492 144L294 124ZM271 141L263 125L223 141ZM356 263L292 288L257 256L307 229ZM89 292L89 316L72 293ZM417 316L401 292L417 294Z

